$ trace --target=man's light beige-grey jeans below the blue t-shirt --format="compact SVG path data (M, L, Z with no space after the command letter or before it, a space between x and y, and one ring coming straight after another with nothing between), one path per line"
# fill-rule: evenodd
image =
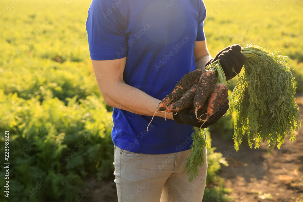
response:
M201 202L205 189L207 157L198 176L188 182L184 167L190 151L138 154L115 146L115 183L119 202Z

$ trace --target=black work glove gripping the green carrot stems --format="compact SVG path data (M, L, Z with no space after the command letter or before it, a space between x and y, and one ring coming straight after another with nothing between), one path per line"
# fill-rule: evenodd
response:
M215 58L209 60L205 66L218 59L225 73L226 81L234 78L237 74L239 74L245 63L245 56L241 52L241 46L239 44L234 44L232 46L224 48L216 55ZM237 74L232 71L232 68L235 69L235 72Z

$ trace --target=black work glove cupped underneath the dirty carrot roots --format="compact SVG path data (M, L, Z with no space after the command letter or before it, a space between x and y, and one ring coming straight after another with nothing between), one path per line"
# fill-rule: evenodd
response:
M229 101L228 101L229 102ZM224 104L214 115L209 117L208 121L202 126L207 128L208 126L215 124L226 113L229 108L228 102ZM183 109L177 112L173 112L173 118L177 124L188 124L190 126L201 127L204 121L199 122L195 113L190 113L191 108ZM176 114L177 113L177 114ZM203 118L202 118L203 119Z

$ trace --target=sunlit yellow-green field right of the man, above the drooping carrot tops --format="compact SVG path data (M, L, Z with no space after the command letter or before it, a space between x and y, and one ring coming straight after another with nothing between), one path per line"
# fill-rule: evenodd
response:
M255 44L289 56L297 68L297 92L303 92L303 18L299 0L205 0L207 15L204 31L208 50L214 57L231 44ZM291 14L291 15L290 15ZM298 78L297 78L298 76ZM299 77L300 76L300 77ZM229 82L234 83L236 79ZM232 90L233 87L228 86Z

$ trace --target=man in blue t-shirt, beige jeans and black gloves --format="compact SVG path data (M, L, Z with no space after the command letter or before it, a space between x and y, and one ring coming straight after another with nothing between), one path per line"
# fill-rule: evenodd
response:
M205 16L202 0L92 0L86 30L94 71L102 75L98 86L106 104L114 107L119 202L202 200L207 163L191 183L184 172L193 126L201 123L182 110L176 116L156 113L149 133L146 127L181 77L212 61L203 31ZM237 47L214 58L224 60L229 79L236 75L232 68L238 73L243 66ZM204 154L206 162L206 150Z

